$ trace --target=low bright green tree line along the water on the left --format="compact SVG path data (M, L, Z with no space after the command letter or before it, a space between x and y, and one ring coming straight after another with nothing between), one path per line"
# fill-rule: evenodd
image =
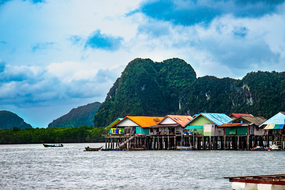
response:
M0 144L105 142L104 127L0 129Z

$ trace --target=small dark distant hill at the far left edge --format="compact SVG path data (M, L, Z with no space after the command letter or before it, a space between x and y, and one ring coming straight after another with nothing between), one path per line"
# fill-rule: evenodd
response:
M21 129L32 128L17 114L11 111L0 111L0 129L13 129L14 126Z

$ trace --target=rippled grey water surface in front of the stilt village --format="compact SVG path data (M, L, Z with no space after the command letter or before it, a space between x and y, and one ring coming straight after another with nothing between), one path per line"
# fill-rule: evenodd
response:
M0 189L231 189L285 173L285 151L83 151L104 143L0 145Z

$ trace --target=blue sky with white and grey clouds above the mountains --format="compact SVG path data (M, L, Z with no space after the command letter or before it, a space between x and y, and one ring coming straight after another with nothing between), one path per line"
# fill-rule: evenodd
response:
M103 102L135 58L197 77L285 71L285 2L0 0L0 110L33 127Z

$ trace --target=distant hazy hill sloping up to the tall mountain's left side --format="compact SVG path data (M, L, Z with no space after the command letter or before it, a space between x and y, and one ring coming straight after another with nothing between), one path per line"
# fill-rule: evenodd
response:
M100 102L94 102L74 108L68 114L53 120L53 122L48 124L48 128L93 126L94 115L100 106Z

